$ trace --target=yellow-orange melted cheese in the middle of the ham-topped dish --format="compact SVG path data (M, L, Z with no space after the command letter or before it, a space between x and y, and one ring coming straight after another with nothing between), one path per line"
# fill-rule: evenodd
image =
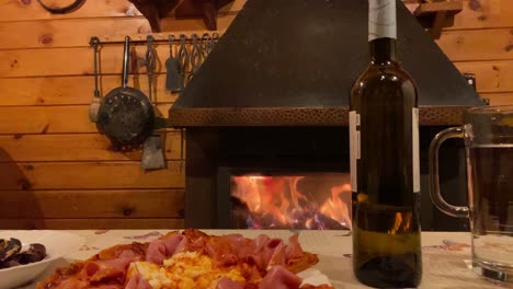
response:
M130 264L127 277L140 274L153 289L215 289L221 278L244 281L239 266L217 268L213 259L201 252L179 253L163 262Z

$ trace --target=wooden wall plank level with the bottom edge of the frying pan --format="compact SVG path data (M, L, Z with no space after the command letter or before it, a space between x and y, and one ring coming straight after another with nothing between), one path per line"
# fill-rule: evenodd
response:
M166 135L168 160L180 159L181 135ZM139 161L141 151L113 151L111 142L99 134L0 136L1 162L41 161Z

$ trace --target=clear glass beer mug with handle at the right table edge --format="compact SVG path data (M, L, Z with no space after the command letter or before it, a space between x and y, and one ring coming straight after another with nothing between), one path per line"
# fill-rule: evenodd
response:
M440 194L438 149L449 138L465 140L468 207L449 205ZM430 194L441 211L470 218L474 270L513 282L513 105L470 108L465 125L435 136Z

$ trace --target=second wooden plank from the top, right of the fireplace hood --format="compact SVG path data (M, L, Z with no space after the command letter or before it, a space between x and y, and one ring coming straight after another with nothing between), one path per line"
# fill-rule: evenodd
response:
M453 61L513 59L513 28L447 31L436 43Z

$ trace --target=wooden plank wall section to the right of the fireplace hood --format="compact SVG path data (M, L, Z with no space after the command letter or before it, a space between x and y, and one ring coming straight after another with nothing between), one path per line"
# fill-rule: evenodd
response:
M490 104L513 104L513 1L464 0L437 44L461 72L476 73Z

